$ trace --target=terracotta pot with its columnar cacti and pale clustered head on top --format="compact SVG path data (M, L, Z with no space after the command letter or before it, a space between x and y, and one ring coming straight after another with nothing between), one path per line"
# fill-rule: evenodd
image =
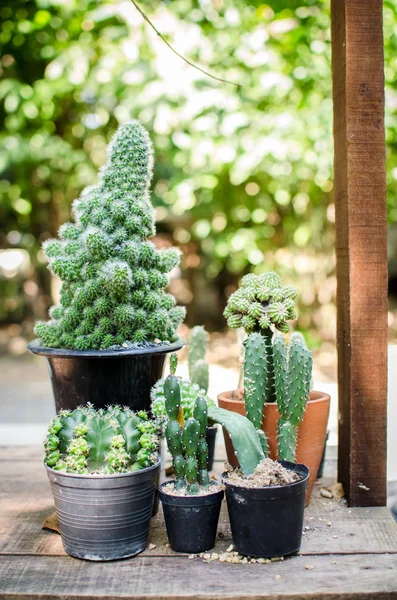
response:
M248 335L244 358L244 389L218 396L219 406L237 412L266 434L272 459L309 467L307 501L316 480L326 436L330 397L310 391L312 358L299 333L284 334L295 318L297 292L283 286L276 273L246 275L225 309L228 325ZM228 459L237 464L225 433ZM262 443L264 439L262 436Z

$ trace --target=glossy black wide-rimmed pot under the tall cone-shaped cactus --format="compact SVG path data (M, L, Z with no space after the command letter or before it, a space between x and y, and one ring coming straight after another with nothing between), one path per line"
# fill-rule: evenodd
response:
M178 340L142 348L80 352L43 348L35 340L28 348L47 359L57 412L87 402L95 408L119 404L149 411L150 390L163 374L166 354L183 345Z

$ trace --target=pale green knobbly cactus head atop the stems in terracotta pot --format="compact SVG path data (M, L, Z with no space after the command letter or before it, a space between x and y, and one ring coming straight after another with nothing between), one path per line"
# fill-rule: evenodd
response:
M248 335L255 331L268 333L273 328L288 333L287 321L296 318L296 296L296 289L283 286L277 273L250 273L230 296L224 315L229 327L243 327Z

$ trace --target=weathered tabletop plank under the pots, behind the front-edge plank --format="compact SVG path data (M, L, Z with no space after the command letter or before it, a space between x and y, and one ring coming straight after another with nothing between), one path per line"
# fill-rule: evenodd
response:
M3 460L0 481L0 554L64 555L60 536L41 529L43 520L53 511L53 500L40 459ZM331 482L329 479L324 483ZM304 555L397 552L397 525L386 508L348 509L338 500L322 498L320 485L315 486L306 510L305 527L301 547ZM175 556L166 545L161 513L152 520L150 542L156 548L147 554ZM215 551L224 552L230 543L224 503Z

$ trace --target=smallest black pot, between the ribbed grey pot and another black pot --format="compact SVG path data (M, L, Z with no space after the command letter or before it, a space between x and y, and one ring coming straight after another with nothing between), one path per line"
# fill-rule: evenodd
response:
M172 496L163 483L159 490L170 546L176 552L196 553L215 545L223 489L206 496Z

